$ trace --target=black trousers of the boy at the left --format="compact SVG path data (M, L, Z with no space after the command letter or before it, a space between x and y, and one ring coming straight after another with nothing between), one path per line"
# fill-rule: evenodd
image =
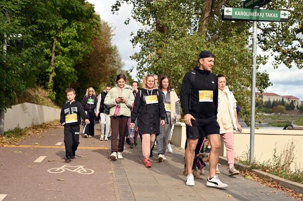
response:
M78 134L75 134L77 132ZM70 126L64 127L64 146L65 146L65 156L66 158L71 157L75 154L79 145L79 128L72 128Z

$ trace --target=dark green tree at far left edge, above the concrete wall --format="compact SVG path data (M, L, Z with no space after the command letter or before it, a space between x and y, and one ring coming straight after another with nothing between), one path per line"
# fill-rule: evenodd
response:
M0 53L0 110L6 110L16 103L16 96L35 86L42 62L40 52L43 43L36 38L38 29L28 24L24 12L30 1L0 1L0 40L10 46ZM16 46L24 40L24 47Z

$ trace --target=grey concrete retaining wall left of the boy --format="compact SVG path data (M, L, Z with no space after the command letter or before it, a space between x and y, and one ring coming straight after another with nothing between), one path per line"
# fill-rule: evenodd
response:
M4 130L12 130L17 126L25 128L60 119L60 112L57 108L32 103L14 105L5 113Z

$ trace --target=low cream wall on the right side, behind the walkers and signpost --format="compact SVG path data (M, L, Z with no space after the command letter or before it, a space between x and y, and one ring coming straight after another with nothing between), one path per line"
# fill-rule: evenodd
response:
M171 143L184 149L186 140L185 123L176 123ZM303 130L274 130L274 129L256 129L255 130L255 159L258 162L272 160L274 149L277 149L276 155L280 155L286 148L287 143L293 140L295 142L294 161L303 168ZM234 135L235 157L240 158L249 154L250 130L243 129L241 133ZM222 145L224 145L222 141ZM225 145L221 147L220 156L227 157ZM249 160L249 155L248 155ZM291 168L294 170L294 164Z

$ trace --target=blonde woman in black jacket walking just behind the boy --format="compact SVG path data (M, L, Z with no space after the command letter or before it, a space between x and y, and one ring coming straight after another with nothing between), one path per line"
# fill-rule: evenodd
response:
M95 108L97 106L98 99L96 97L96 93L92 87L89 87L86 90L85 96L82 100L82 106L85 110L85 113L87 113L89 122L92 122L88 124L88 132L84 133L84 138L93 137L94 136L94 115L95 115Z

